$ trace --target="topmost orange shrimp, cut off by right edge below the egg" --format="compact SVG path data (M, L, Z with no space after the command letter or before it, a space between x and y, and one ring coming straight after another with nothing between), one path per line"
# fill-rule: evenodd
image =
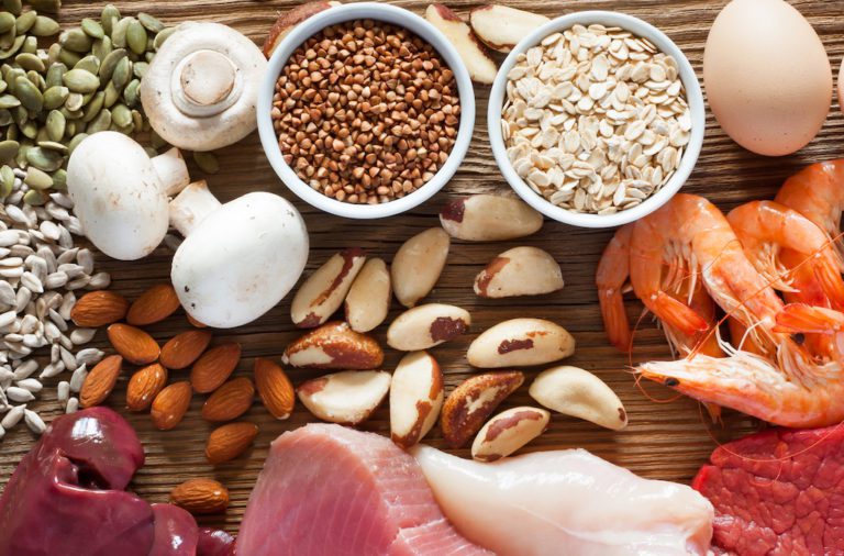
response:
M844 158L813 164L786 180L774 199L814 222L828 241L841 234L844 211ZM839 269L844 270L844 245L834 242Z

